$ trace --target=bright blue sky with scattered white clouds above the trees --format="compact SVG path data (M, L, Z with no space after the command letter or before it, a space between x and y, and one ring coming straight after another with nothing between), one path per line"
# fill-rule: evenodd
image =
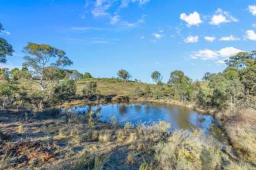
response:
M152 82L159 70L201 79L223 60L255 50L255 0L1 0L1 33L15 49L1 67L20 67L27 42L64 50L79 72L95 77L128 70Z

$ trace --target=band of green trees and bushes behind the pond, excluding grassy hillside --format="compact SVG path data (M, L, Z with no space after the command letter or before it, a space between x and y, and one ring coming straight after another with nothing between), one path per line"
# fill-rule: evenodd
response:
M0 24L0 31L3 26ZM7 62L14 50L11 44L0 38L0 63ZM65 101L77 98L77 80L91 78L85 82L83 96L88 98L96 94L97 79L89 72L81 74L77 70L67 70L73 62L63 50L48 44L29 42L23 48L25 62L21 70L0 69L0 103L2 109L46 108L61 105ZM171 98L184 103L191 102L201 108L230 108L256 106L256 51L239 52L226 61L227 68L217 74L205 73L202 81L195 81L181 70L171 72L168 82L162 82L160 72L153 72L151 78L157 86L135 89L134 95L151 98ZM131 75L127 70L117 72L118 79L129 82ZM115 79L115 78L112 78ZM41 90L21 86L19 81L31 81ZM138 82L137 79L131 82ZM132 95L132 94L131 94ZM29 107L28 107L29 106Z

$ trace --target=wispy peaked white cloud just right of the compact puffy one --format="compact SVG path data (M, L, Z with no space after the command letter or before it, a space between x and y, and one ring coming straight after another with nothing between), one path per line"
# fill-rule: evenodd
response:
M231 16L229 12L223 11L223 9L217 9L215 11L215 15L211 17L210 24L211 25L220 25L221 23L231 23L231 22L238 22L239 20L235 17Z

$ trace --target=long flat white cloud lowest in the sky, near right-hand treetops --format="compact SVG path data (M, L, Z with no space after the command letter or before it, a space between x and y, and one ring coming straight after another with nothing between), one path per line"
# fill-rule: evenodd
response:
M233 46L221 48L220 50L197 50L193 52L191 58L201 60L215 60L219 64L223 64L223 58L233 56L242 50L234 48Z

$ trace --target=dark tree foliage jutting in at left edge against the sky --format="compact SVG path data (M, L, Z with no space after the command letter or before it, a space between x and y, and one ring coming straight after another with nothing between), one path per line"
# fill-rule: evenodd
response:
M3 30L3 25L0 23L0 33ZM0 63L5 63L7 61L6 56L11 56L13 52L13 46L11 46L11 44L9 44L5 39L0 37Z

